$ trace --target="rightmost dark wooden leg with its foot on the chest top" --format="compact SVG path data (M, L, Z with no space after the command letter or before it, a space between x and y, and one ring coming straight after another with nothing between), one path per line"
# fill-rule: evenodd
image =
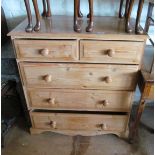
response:
M139 0L137 18L136 18L136 27L135 27L136 34L144 33L143 29L140 27L140 17L141 17L141 13L142 13L143 4L144 4L144 0Z

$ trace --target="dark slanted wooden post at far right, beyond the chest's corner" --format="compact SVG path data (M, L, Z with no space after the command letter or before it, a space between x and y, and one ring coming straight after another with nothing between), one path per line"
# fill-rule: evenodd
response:
M154 7L154 5L149 3L147 17L146 17L146 23L145 23L145 28L144 28L146 33L148 33L148 31L149 31L149 26L150 26L150 23L151 23L153 7Z

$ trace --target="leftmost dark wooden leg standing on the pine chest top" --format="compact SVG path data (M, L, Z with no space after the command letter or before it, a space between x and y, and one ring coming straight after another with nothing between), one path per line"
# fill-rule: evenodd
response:
M32 32L33 25L32 25L32 15L31 15L30 3L29 3L29 0L24 0L24 2L25 2L27 17L28 17L28 25L25 28L25 31Z

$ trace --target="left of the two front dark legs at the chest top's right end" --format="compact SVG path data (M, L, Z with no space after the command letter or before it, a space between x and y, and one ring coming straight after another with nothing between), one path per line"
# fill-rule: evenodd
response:
M127 18L126 18L126 22L125 22L125 31L127 33L132 32L132 28L130 27L130 16L131 16L131 11L133 8L134 1L135 0L129 0L129 9L128 9Z

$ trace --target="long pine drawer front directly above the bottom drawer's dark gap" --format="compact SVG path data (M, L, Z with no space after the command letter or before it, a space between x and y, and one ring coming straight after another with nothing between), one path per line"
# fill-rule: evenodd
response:
M132 92L28 89L30 106L54 110L130 111Z

